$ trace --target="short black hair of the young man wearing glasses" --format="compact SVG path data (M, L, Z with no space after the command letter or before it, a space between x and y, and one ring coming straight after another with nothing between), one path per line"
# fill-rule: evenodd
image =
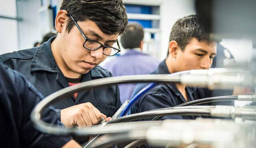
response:
M63 0L60 10L68 12L66 31L69 33L76 21L93 21L104 34L122 34L128 24L122 0Z

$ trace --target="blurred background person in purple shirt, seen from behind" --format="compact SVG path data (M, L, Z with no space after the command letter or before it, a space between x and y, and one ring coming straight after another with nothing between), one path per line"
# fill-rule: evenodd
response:
M138 23L130 23L121 35L121 43L127 50L124 55L112 59L104 66L113 76L144 75L156 69L158 59L142 52L144 31ZM130 100L136 84L119 84L122 103Z

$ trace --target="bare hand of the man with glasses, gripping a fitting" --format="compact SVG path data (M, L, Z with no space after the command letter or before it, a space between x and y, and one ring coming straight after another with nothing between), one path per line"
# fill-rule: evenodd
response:
M74 105L60 111L60 120L66 128L72 128L74 125L89 127L97 124L101 117L106 118L106 115L100 113L91 103Z

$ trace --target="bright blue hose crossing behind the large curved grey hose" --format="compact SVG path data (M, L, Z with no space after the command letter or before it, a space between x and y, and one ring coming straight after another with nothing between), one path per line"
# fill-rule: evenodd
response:
M190 73L190 70L172 73L172 74L168 75L168 77L172 77L174 75L181 75L181 74L185 74L185 73ZM144 87L141 91L139 91L134 97L132 97L131 102L126 106L124 111L122 111L122 113L120 114L120 117L125 116L127 114L127 112L131 109L131 107L140 99L140 97L142 97L150 89L156 87L156 85L157 85L157 83L150 83L146 87Z

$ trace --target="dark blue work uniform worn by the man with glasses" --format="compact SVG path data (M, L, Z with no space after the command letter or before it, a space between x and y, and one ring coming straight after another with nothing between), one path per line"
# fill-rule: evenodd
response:
M60 89L68 87L68 81L57 66L52 54L51 43L55 37L50 38L39 47L15 51L0 55L0 61L11 69L17 70L34 85L40 93L48 96ZM70 55L72 56L72 55ZM111 77L111 73L100 66L94 67L82 75L82 82L104 77ZM106 116L112 116L120 107L119 90L117 85L109 85L98 89L79 92L75 99L72 95L53 103L60 118L60 109L73 105L90 102Z

